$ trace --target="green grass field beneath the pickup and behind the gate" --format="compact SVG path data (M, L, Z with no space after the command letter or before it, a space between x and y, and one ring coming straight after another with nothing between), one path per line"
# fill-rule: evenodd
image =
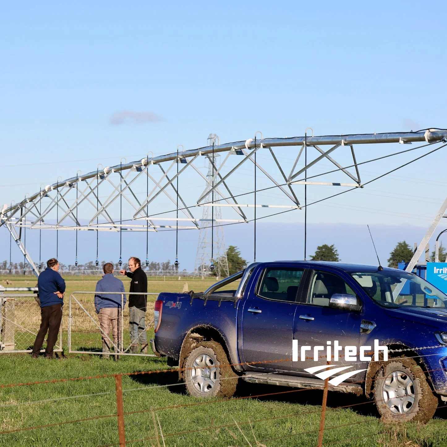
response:
M30 278L13 278L14 286L30 281ZM210 284L196 282L188 281L189 289L204 290ZM0 283L4 284L4 278L0 278ZM69 291L93 290L94 283L96 278L90 277L67 280ZM183 280L151 279L149 287L157 292L181 291ZM148 336L153 336L152 331ZM78 337L83 344L98 340L97 333L80 332ZM156 372L163 370L169 371ZM186 395L184 385L178 383L177 371L167 366L165 358L122 357L114 362L91 354L67 354L66 358L51 361L33 360L28 354L1 354L0 357L1 384L135 371L155 372L122 377L124 411L149 410L125 416L128 443L155 435L152 409L160 420L166 446L316 446L322 398L319 390L301 391L240 381L236 391L239 399L204 402ZM114 389L113 377L0 388L0 432L116 414ZM337 408L346 405L350 406ZM177 408L166 408L173 406ZM439 409L426 426L411 423L399 428L384 426L371 403L329 392L324 443L368 447L446 446L446 417L447 407ZM190 433L176 434L179 432ZM113 443L118 443L116 417L0 434L0 445L5 446ZM131 445L158 446L156 439ZM161 438L160 445L163 445Z

